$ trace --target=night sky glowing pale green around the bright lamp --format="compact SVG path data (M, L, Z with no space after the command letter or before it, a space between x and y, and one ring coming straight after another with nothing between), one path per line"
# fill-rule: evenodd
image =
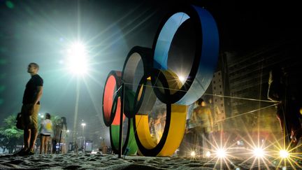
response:
M301 9L272 1L185 1L212 13L220 51L248 54L280 41L301 41ZM66 116L73 125L76 80L66 71L66 48L79 39L89 50L89 74L80 78L78 120L87 132L101 131L103 85L111 70L122 70L135 45L152 47L161 19L173 1L4 1L0 0L0 120L17 114L27 65L36 62L44 80L40 113ZM301 55L297 54L297 57ZM2 122L1 122L2 123ZM107 129L105 130L107 133Z

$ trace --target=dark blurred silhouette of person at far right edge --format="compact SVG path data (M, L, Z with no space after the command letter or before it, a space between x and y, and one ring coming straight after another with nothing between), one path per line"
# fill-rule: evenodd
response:
M289 74L284 67L271 69L268 78L268 99L278 102L276 115L280 122L282 141L285 148L293 149L301 138L300 106L297 97L290 92Z

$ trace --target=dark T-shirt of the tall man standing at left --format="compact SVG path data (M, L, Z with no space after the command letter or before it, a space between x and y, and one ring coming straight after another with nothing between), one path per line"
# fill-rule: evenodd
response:
M31 76L31 79L27 82L24 95L23 104L34 104L34 100L38 94L38 86L43 86L43 79L38 74ZM40 104L38 101L37 104Z

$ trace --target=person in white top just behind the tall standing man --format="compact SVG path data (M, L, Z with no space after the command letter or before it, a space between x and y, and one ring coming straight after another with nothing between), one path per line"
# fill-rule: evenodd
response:
M52 133L52 121L50 120L50 113L45 114L45 120L41 122L41 147L40 154L48 153L48 141L50 139L50 134Z

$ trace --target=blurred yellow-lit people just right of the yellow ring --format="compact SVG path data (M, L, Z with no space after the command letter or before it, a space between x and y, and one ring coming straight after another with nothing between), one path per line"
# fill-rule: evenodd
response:
M213 116L210 107L199 98L190 105L187 112L185 136L180 145L180 155L196 151L201 156L210 151L210 133L213 132Z

